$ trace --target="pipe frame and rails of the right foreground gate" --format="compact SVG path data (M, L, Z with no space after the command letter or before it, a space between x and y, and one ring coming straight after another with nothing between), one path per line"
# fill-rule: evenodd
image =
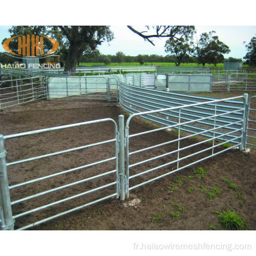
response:
M120 90L122 90L122 87L121 87ZM139 186L142 186L142 185L147 184L147 183L149 183L149 182L152 182L152 181L154 181L154 180L157 180L157 179L160 179L160 178L162 178L162 177L165 177L166 175L172 174L172 173L177 172L178 170L181 170L181 169L183 169L183 168L185 168L185 167L188 167L188 166L190 166L190 165L193 165L193 164L195 164L195 163L201 162L201 161L203 161L203 160L205 160L205 159L208 159L208 158L210 158L210 157L213 157L213 156L215 156L215 155L218 155L218 154L220 154L221 152L224 152L224 151L226 151L226 150L230 150L231 148L237 147L238 145L239 145L240 148L241 148L242 145L243 145L243 135L244 135L244 122L243 122L243 120L244 120L244 116L245 116L245 113L246 113L247 96L248 96L248 95L245 94L244 96L232 97L232 98L229 98L229 99L211 100L211 101L200 102L200 103L194 103L194 104L189 104L189 105L183 105L183 106L178 106L178 107L174 107L174 108L166 108L166 109L161 109L161 110L153 110L153 111L145 111L145 112L141 112L141 110L140 110L139 113L134 113L134 114L132 114L132 115L127 119L127 121L126 121L126 126L125 126L125 143L126 143L126 186L128 187L128 189L126 190L126 197L129 197L129 191L132 190L132 189L134 189L134 188L137 188L137 187L139 187ZM228 100L234 100L234 99L238 99L238 98L243 98L243 99L244 99L244 104L243 104L244 107L243 107L243 108L241 108L241 109L239 109L239 110L236 110L236 111L227 111L226 113L217 114L217 106L219 106L218 103L220 103L220 102L225 102L225 101L228 101ZM123 99L123 98L122 98L122 95L120 95L120 99L121 99L121 100ZM204 118L198 118L198 119L191 120L191 121L186 121L186 120L184 121L184 120L181 118L181 116L182 116L181 111L185 111L185 110L188 109L188 108L190 109L190 108L194 108L194 107L197 107L197 106L202 106L202 108L205 109L205 106L207 106L207 104L211 104L211 105L214 104L214 105L215 105L214 114L213 114L213 115L210 115L210 116L204 117ZM121 106L123 106L123 105L124 105L124 104L122 104ZM124 109L125 109L125 106L126 106L126 105L124 105ZM132 134L132 135L129 134L129 131L130 131L130 122L131 122L131 120L132 120L135 116L138 116L138 117L141 117L141 118L143 118L143 119L146 119L144 116L147 116L147 117L148 117L148 115L152 115L152 114L162 114L162 115L163 115L163 114L164 114L165 112L167 112L167 111L174 111L174 110L178 110L178 113L179 113L178 123L177 123L177 124L169 125L169 126L164 126L164 127L158 128L158 129L154 129L154 130L151 130L151 131L146 131L146 132L142 132L142 133L138 133L138 134ZM219 117L219 116L221 116L221 115L228 115L228 114L231 114L231 113L234 113L234 112L238 112L238 111L242 111L242 112L243 112L243 113L242 113L242 114L243 114L243 117L241 118L241 120L235 120L235 121L233 121L232 123L227 123L227 124L225 124L225 125L217 125L217 122L216 122L216 118L217 118L217 117ZM211 136L209 139L205 140L205 141L198 142L198 143L195 143L195 144L193 144L193 145L189 145L189 146L180 148L180 141L181 141L181 140L184 140L184 139L187 139L187 138L189 138L189 137L196 136L196 135L200 135L200 136L204 137L204 136L203 136L204 133L209 133L209 130L208 130L208 129L205 129L205 130L202 131L202 132L194 133L193 135L188 135L188 136L186 136L186 137L181 138L180 133L181 133L181 131L182 131L182 126L187 125L188 123L192 123L192 122L194 122L194 123L196 122L196 123L197 123L198 120L206 120L206 119L209 119L209 118L211 118L211 119L214 118L214 125L213 125L214 127L213 127L212 129L210 129L211 132L213 132L213 133L212 133L212 136ZM147 118L147 119L150 120L150 118ZM184 122L183 122L183 121L184 121ZM223 129L225 130L225 129L227 129L227 128L226 128L227 126L234 125L234 124L239 124L239 125L238 125L238 126L239 126L238 129L236 129L236 130L233 129L231 132L227 132L227 133L221 133L221 134L217 133L217 130L220 130L220 129L221 129L221 130L223 130ZM206 124L206 125L207 125L207 124ZM208 125L208 126L209 126L209 125ZM165 142L165 143L158 144L158 145L155 145L155 146L151 146L151 147L147 147L147 148L142 148L141 150L137 150L136 152L129 152L129 142L130 142L130 138L136 137L136 136L140 136L140 135L149 134L149 133L152 133L152 132L157 132L157 131L169 129L169 128L173 128L173 127L175 127L176 129L177 129L177 127L178 127L178 139L175 139L175 140L173 140L173 141L167 141L167 142ZM224 136L227 136L227 135L233 134L233 133L239 133L240 135L239 135L239 136L236 135L236 136L234 136L234 137L231 138L231 139L226 139L226 138L225 138L223 142L221 142L220 144L215 145L215 141L216 141L216 140L220 140L221 137L224 137ZM234 143L234 140L239 140L239 143ZM198 151L198 152L196 152L196 153L193 153L193 154L190 154L190 155L188 155L188 156L185 156L185 157L180 158L179 153L180 153L181 151L184 151L184 150L186 150L187 148L191 148L191 147L194 147L194 146L196 146L196 145L200 145L200 144L205 143L205 142L208 142L208 141L213 141L212 146L210 146L210 147L208 147L208 148L206 148L206 149L204 149L204 150L201 150L201 151ZM159 147L159 146L161 146L161 145L165 145L165 144L169 144L169 143L174 143L174 142L178 142L178 149L175 150L175 151L168 152L168 153L166 153L166 154L162 154L162 155L160 155L160 156L156 156L156 157L153 157L153 158L150 158L150 159L146 159L146 160L144 160L144 161L140 161L140 162L134 163L134 164L132 164L132 165L129 164L130 156L133 155L133 154L136 154L136 153L139 153L139 152L142 152L142 151L146 151L146 150L149 150L149 149L152 149L152 148L156 148L156 147ZM214 152L214 149L215 149L216 147L221 146L221 145L223 145L224 143L228 143L228 142L230 142L230 143L232 143L232 144L235 144L235 145L230 146L229 148L227 148L226 150L223 150L223 151L221 151L221 152L217 152L217 153ZM193 156L195 156L195 155L198 155L198 154L200 154L200 153L203 153L203 152L206 152L206 151L210 151L210 150L211 150L211 154L210 154L209 156L207 156L207 157L205 157L205 158L202 158L202 159L200 159L200 160L198 160L198 161L195 161L195 162L193 162L193 163L187 164L187 165L185 165L185 166L182 166L182 167L179 166L180 161L182 161L182 160L184 160L184 159L191 158L191 157L193 157ZM148 169L148 170L146 170L146 171L144 171L144 172L142 172L142 173L135 174L135 175L133 175L133 176L130 177L130 168L135 167L135 166L137 166L137 165L139 165L139 164L143 164L143 163L146 163L146 162L149 162L149 161L152 161L152 160L155 160L155 159L158 159L158 158L161 158L161 157L170 155L170 154L174 154L174 153L177 153L177 154L178 154L176 160L171 161L171 162L167 162L167 163L165 163L165 164L163 164L163 165L160 165L160 166L157 166L157 167L154 167L154 168L151 168L151 169ZM147 174L147 173L149 173L149 172L153 172L153 171L156 170L156 169L159 169L159 168L168 166L168 165L173 164L173 163L177 163L177 168L176 168L175 170L173 170L172 172L168 172L167 174L158 176L158 177L156 177L156 178L154 178L154 179L151 179L151 180L149 180L149 181L142 182L142 183L140 183L140 184L138 184L138 185L135 185L135 186L133 186L133 187L130 187L130 186L129 186L130 179L136 178L136 177L138 177L138 176L140 176L140 175Z

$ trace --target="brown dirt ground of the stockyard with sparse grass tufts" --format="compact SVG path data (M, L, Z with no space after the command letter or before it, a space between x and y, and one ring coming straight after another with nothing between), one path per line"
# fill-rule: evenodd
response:
M205 93L200 96L226 98L242 95L242 93ZM252 96L253 94L250 94ZM254 99L251 108L255 108ZM99 100L56 99L38 100L32 103L15 106L0 112L0 133L3 135L34 131L97 120L112 118L118 123L118 116L125 114L117 102L107 103ZM256 120L255 114L251 118ZM125 115L125 120L127 116ZM155 129L151 124L135 118L131 122L131 134ZM254 127L255 129L255 127ZM152 133L147 137L141 136L131 140L130 151L141 147L148 147L177 138L177 133L163 130ZM26 136L5 141L7 162L27 159L38 155L49 154L68 148L80 147L114 138L114 125L112 122L102 122L72 129ZM182 146L194 144L200 138L184 140ZM252 141L255 143L256 141ZM207 143L200 146L206 148ZM249 146L250 152L240 152L236 149L226 151L215 157L184 168L179 172L168 175L162 179L140 186L130 191L130 197L124 201L115 196L96 204L63 215L56 219L31 227L30 230L226 230L218 224L218 215L213 211L236 211L237 215L245 218L246 230L256 229L255 218L255 157L256 149ZM165 145L157 150L131 156L130 164L165 154L170 151ZM188 150L188 154L197 150L197 147ZM217 147L216 151L224 150ZM207 153L195 156L203 158ZM115 156L114 142L100 144L94 147L68 152L58 156L42 158L27 163L8 166L9 185L27 182L32 179L59 173L68 169L77 168L102 159ZM175 158L176 155L172 156ZM167 158L160 158L153 163L145 163L131 168L131 175L143 172L164 164ZM186 165L190 160L184 161ZM172 166L163 167L148 174L154 178L172 170ZM204 169L205 175L197 174L198 169ZM11 189L11 201L42 193L72 182L87 179L91 176L110 172L115 169L115 161L99 163L93 167L75 169L72 173L59 175L47 180L40 180L34 184ZM134 186L148 178L146 175L131 179ZM228 179L228 182L224 182ZM95 180L89 180L72 187L40 196L35 199L17 202L12 206L13 216L24 211L40 207L58 200L83 193L84 191L104 186L115 181L115 174L109 174ZM231 189L229 184L236 186ZM208 193L220 190L215 198L209 199ZM19 217L15 221L15 229L30 223L48 218L59 212L78 207L98 198L115 194L115 185L111 185L79 198L52 205L29 215Z

